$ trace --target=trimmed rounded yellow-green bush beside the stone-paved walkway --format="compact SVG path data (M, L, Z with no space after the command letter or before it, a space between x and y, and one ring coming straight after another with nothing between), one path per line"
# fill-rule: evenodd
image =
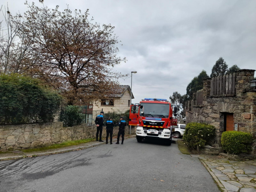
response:
M252 142L252 134L241 131L225 131L221 136L222 149L231 154L247 153Z

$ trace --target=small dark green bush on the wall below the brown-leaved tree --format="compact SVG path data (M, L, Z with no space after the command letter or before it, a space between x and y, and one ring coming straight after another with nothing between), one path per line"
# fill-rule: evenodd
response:
M84 115L80 106L68 105L61 110L60 121L63 121L64 127L78 125L83 121Z

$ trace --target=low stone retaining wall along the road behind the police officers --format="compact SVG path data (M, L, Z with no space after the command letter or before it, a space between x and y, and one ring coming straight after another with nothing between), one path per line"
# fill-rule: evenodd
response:
M113 135L117 133L118 127L115 127ZM131 133L135 134L134 126ZM126 126L125 134L129 134L129 126ZM86 123L73 127L63 127L62 122L0 125L0 151L36 148L95 137L96 125L88 127ZM104 137L106 137L106 129L103 127L102 138L106 139Z

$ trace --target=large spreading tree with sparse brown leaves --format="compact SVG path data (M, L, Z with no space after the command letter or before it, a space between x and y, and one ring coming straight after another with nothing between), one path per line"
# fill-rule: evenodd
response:
M126 61L117 57L119 41L114 27L92 23L85 13L68 8L63 12L37 7L34 3L24 13L19 36L31 41L29 58L36 61L27 73L40 77L61 90L68 103L100 99L117 87L118 79L126 77L113 70Z

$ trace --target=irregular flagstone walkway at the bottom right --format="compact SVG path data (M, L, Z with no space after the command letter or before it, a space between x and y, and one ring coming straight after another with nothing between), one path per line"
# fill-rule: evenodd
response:
M223 191L256 192L256 159L231 161L222 156L198 157Z

